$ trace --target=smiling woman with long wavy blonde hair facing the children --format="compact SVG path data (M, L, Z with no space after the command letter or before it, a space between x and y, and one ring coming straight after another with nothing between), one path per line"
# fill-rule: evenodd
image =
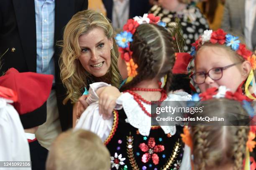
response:
M115 87L120 85L114 36L109 20L93 10L75 14L64 30L60 69L67 97L63 103L77 102L73 119L83 107L78 99L84 87L88 89L90 83L102 81Z

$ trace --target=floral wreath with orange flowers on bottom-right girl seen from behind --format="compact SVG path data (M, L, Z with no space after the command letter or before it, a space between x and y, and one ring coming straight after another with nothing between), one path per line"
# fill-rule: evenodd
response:
M205 101L205 100L210 100L213 98L227 98L230 100L237 100L243 102L243 108L248 112L250 117L253 118L253 120L256 118L254 114L254 109L251 107L251 104L247 101L247 97L242 94L241 89L236 91L235 93L230 92L228 88L225 86L220 86L219 88L212 87L207 89L205 92L201 94L194 94L192 96L192 101ZM250 170L250 161L253 162L251 164L251 169L256 168L256 164L254 159L251 157L250 158L250 152L253 152L253 148L255 148L256 142L254 141L255 139L255 133L256 133L256 126L251 125L250 126L250 131L248 133L248 141L246 142L246 160L245 160L245 165L244 165L244 170ZM183 134L181 134L182 141L191 148L193 149L193 143L192 143L192 137L189 132L189 128L185 126L183 128Z

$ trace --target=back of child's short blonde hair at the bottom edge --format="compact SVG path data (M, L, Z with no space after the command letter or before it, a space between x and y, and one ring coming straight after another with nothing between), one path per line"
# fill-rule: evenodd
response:
M100 138L87 130L61 133L51 145L46 170L109 170L110 153Z

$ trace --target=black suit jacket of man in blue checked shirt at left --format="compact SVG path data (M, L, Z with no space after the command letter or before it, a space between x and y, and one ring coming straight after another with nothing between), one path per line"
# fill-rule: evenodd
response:
M0 2L0 72L10 67L19 72L36 72L36 15L34 0L1 0ZM87 9L88 0L55 0L54 41L62 39L64 26L72 16ZM11 50L15 48L15 51ZM13 52L12 52L13 51ZM62 130L72 125L72 105L62 104L65 90L59 75L60 48L55 46L55 77L59 118ZM38 96L40 97L40 96Z

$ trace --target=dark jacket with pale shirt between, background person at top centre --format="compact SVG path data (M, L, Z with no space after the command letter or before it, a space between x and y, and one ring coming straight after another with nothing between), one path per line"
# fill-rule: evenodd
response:
M107 10L107 17L112 20L113 0L102 0L102 2ZM148 0L130 0L129 18L143 16L143 14L148 13L150 8Z

